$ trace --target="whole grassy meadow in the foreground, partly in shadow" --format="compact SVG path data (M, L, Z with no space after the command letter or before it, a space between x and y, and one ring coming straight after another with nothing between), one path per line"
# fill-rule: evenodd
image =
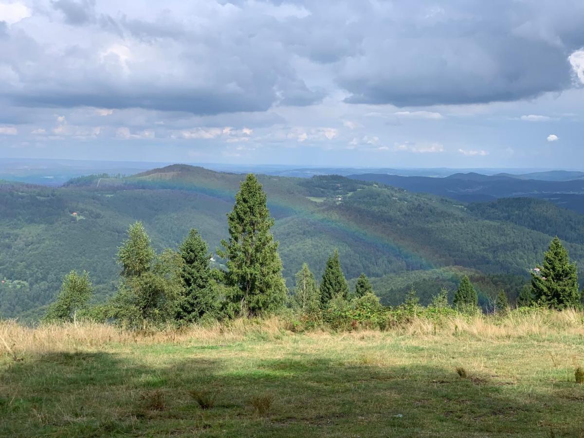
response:
M0 322L0 436L584 436L584 314L389 331ZM457 370L458 369L458 370Z

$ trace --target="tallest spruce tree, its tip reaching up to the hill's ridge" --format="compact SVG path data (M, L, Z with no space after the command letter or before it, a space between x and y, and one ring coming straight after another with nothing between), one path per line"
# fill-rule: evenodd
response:
M235 195L233 210L227 214L229 241L221 241L227 259L225 279L231 286L231 300L242 315L272 312L286 300L282 262L270 228L274 219L267 209L266 193L250 173Z

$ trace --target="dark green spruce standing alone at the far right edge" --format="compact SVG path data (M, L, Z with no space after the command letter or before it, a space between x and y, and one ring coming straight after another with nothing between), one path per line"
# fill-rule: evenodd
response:
M531 273L531 293L537 304L555 309L578 306L578 272L558 237L550 242L539 271Z

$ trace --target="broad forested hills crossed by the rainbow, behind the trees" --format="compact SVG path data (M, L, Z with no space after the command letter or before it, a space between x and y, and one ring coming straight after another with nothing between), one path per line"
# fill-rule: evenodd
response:
M173 165L129 178L77 178L59 188L0 185L0 314L36 317L71 269L89 271L98 299L113 294L117 246L135 220L158 248L176 248L193 227L216 248L227 237L225 213L243 178ZM513 294L555 234L584 261L582 234L570 231L584 229L584 216L543 201L540 219L529 215L534 206L525 200L467 206L342 176L259 180L276 218L288 287L303 262L320 276L335 248L347 278L373 277L386 303L411 284L425 285L425 300L463 273L484 294L499 287Z

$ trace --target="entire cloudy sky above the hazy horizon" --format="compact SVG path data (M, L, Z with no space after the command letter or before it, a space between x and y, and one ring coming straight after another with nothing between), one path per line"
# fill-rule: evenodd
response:
M0 159L584 169L582 0L0 0Z

